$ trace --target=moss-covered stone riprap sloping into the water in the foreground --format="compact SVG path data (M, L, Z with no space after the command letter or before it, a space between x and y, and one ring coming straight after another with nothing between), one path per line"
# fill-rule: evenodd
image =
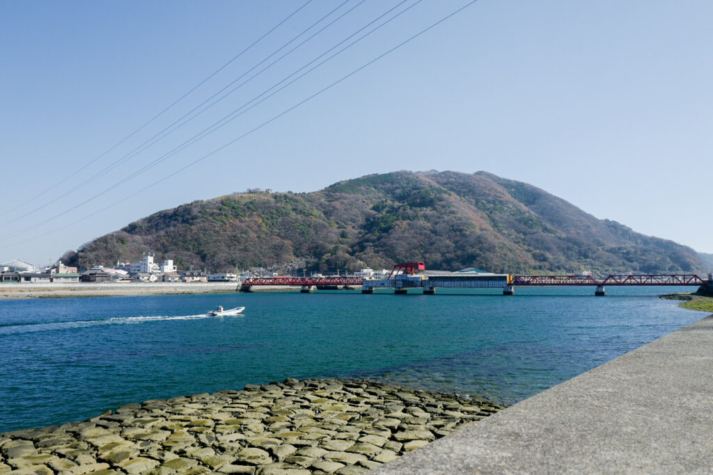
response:
M0 474L358 474L502 408L377 382L287 379L6 432Z

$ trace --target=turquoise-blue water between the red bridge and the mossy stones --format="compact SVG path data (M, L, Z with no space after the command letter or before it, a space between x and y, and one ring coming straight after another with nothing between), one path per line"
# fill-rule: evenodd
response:
M657 298L690 290L0 301L0 432L285 377L366 377L511 404L703 318ZM205 316L219 304L247 309Z

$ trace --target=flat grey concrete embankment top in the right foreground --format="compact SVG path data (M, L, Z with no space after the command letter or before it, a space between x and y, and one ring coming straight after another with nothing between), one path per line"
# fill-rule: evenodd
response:
M712 473L713 315L376 474Z

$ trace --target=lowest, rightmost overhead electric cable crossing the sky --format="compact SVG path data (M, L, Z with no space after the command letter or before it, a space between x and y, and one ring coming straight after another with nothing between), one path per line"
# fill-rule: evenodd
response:
M442 19L436 21L435 23L431 24L430 26L427 26L427 27L424 28L423 30L419 31L419 33L414 34L414 36L411 36L411 37L407 38L406 40L402 41L401 43L399 43L398 45L396 45L396 46L394 46L393 48L389 49L388 51L386 51L386 52L384 52L384 53L381 53L379 56L376 56L376 58L371 59L371 61L369 61L369 62L367 62L367 63L364 63L362 66L359 66L359 68L354 69L351 73L348 73L347 75L342 76L342 78L339 78L338 80L334 81L333 83L331 83L331 84L327 85L326 87L322 88L321 90L317 91L317 93L314 93L314 94L310 95L309 97L307 97L307 98L305 98L305 99L299 101L299 103L292 105L292 107L287 108L286 110L283 110L282 113L279 113L279 114L275 115L275 116L272 117L270 120L266 120L265 122L262 122L262 124L258 125L257 127L252 128L251 130L249 130L249 131L245 132L244 134L240 135L239 137L236 137L235 139L231 140L230 142L227 142L225 145L222 145L221 147L218 147L217 149L213 150L212 152L207 153L206 155L203 155L202 157L198 158L197 160L194 160L193 162L190 162L188 165L185 165L185 166L183 166L183 167L181 167L181 168L175 170L175 172L172 172L172 173L170 173L170 174L168 174L168 175L165 175L165 177L163 177L163 178L161 178L161 179L158 179L157 181L153 182L152 184L149 184L149 185L147 185L146 187L143 187L142 189L139 189L138 191L136 191L136 192L134 192L134 193L132 193L132 194L129 194L128 196L123 197L122 199L118 200L117 202L114 202L113 204L110 204L110 205L108 205L108 206L106 206L106 207L103 207L102 209L99 209L99 210L96 211L96 212L93 212L93 213L91 213L91 214L88 214L88 215L86 215L86 216L83 216L82 218L77 219L76 221L72 221L71 223L66 224L66 225L64 225L64 226L61 226L61 227L59 227L59 228L53 229L52 231L47 231L47 232L44 233L44 234L40 234L40 235L38 235L38 236L34 236L34 237L32 237L32 238L26 239L25 241L34 241L34 240L36 240L36 239L39 239L40 237L47 236L48 234L52 234L52 233L54 233L54 232L61 231L62 229L66 229L66 228L68 228L68 227L70 227L70 226L73 226L73 225L75 225L75 224L77 224L77 223L79 223L79 222L81 222L81 221L84 221L85 219L91 218L92 216L96 216L96 214L105 212L106 210L111 209L111 208L115 207L116 205L118 205L118 204L120 204L120 203L123 203L123 202L125 202L126 200L128 200L128 199L130 199L130 198L133 198L133 197L135 197L136 195L141 194L141 193L147 191L147 190L150 189L150 188L155 187L157 184L160 184L160 183L162 183L162 182L165 182L165 180L167 180L167 179L169 179L169 178L171 178L171 177L174 177L176 174L179 174L180 172L183 172L183 171L185 171L186 169L188 169L188 168L190 168L190 167L193 167L194 165L197 165L198 163L202 162L203 160L207 159L208 157L211 157L212 155L215 155L217 152L220 152L221 150L224 150L225 148L230 147L230 145L233 145L235 142L238 142L239 140L242 140L243 138L247 137L248 135L252 134L253 132L256 132L257 130L262 129L262 127L265 127L265 125L268 125L268 124L274 122L275 120L281 118L283 115L285 115L285 114L291 112L292 110L299 108L299 107L300 107L301 105L303 105L304 103L307 103L309 100L312 100L312 99L316 98L318 95L320 95L320 94L324 93L325 91L327 91L327 90L333 88L335 85L338 85L339 83L342 83L342 81L346 80L347 78L352 77L352 75L354 75L354 74L356 74L356 73L359 73L359 71L363 70L364 68L367 68L367 67L371 66L371 64L376 63L376 61L379 61L381 58L384 58L384 56L387 56L387 55L393 53L393 52L396 51L397 49L399 49L399 48L401 48L402 46L406 45L407 43L413 41L415 38L418 38L418 37L421 36L422 34L426 33L426 31L430 31L430 30L431 30L432 28L434 28L435 26L438 26L439 24L443 23L443 21L446 21L446 20L450 19L452 16L454 16L454 15L460 13L460 12L463 11L464 9L468 8L468 6L471 6L472 4L475 4L476 1L478 1L478 0L471 0L471 1L469 1L467 4L461 6L459 9L456 9L455 11L451 12L451 14L448 14L448 15L444 16ZM16 245L16 244L6 245L6 246L0 246L0 249L6 249L6 248L8 248L8 247L10 247L10 246L14 246L14 245Z

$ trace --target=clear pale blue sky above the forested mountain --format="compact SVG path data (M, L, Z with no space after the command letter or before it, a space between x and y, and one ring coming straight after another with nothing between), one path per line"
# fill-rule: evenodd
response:
M103 155L306 1L1 1L0 261L48 263L195 199L399 169L486 170L713 252L709 1L480 0L250 132L468 3L407 0L339 48L413 5L396 19L169 155L401 3L312 0ZM241 75L240 88L134 153Z

